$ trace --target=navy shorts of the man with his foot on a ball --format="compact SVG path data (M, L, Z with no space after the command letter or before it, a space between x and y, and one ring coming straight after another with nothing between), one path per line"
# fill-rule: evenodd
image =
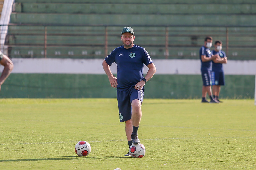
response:
M134 89L134 85L127 90L117 90L117 105L120 122L124 122L132 118L132 100L139 99L142 103L143 94L144 87L141 90L136 90Z

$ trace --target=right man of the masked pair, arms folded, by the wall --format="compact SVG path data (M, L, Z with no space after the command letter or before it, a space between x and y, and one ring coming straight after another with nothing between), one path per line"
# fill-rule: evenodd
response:
M222 64L227 63L227 57L224 51L222 51L222 42L221 41L215 41L214 43L215 49L212 50L213 55L219 55L219 58L216 58L212 62L212 93L213 98L215 98L217 101L219 101L219 92L220 92L220 86L225 85L225 78L224 78L224 71ZM221 101L219 101L221 102Z

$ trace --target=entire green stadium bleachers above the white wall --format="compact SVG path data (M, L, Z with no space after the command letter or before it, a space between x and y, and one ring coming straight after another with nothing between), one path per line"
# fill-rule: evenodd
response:
M212 36L229 59L255 59L255 9L255 0L16 0L6 45L10 57L104 58L132 26L154 58L198 59Z

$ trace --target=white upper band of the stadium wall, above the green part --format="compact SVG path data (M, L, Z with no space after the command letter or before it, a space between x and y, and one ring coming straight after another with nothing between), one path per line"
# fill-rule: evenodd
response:
M56 58L12 58L12 73L65 73L65 74L105 74L103 59L56 59ZM201 74L200 60L154 59L156 74ZM224 65L226 75L256 75L256 60L228 60ZM117 72L116 64L110 67ZM0 66L3 70L3 66ZM144 67L144 73L147 67Z

